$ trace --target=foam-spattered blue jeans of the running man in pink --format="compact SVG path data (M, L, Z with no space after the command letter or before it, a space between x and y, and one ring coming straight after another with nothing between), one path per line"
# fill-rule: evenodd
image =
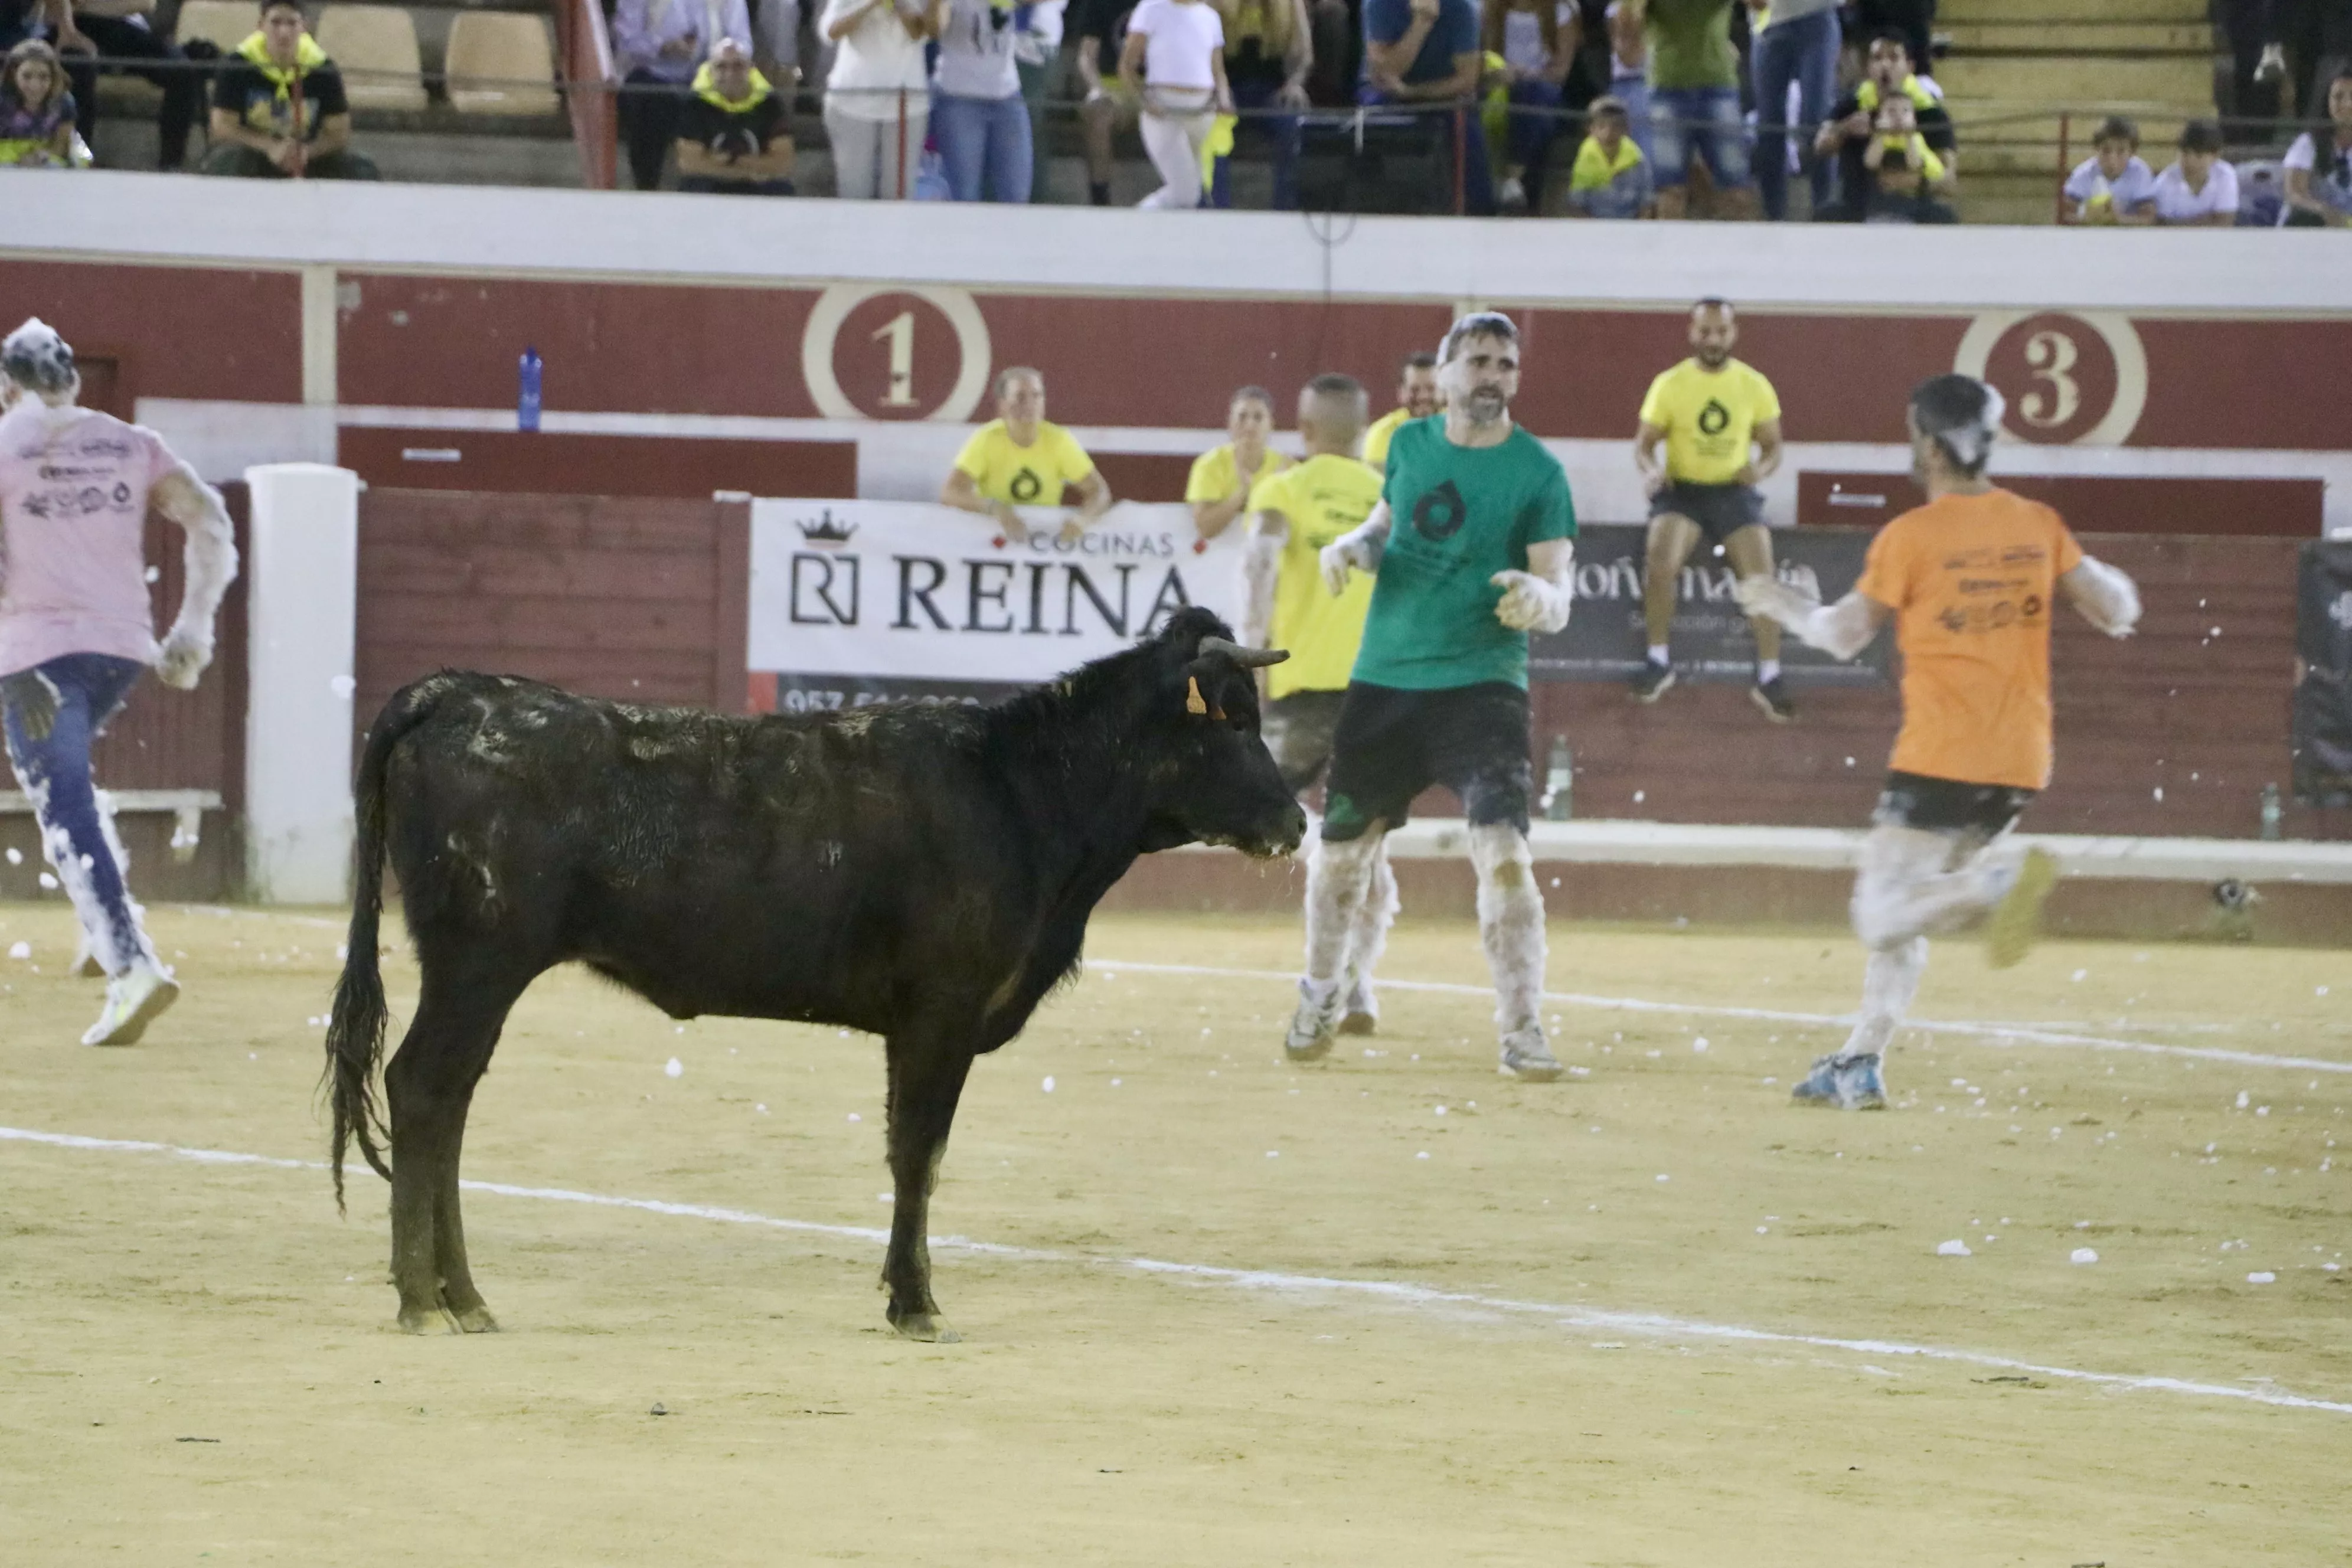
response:
M64 654L0 679L0 726L16 783L33 797L40 853L73 900L89 952L120 976L141 954L139 907L122 886L113 835L89 783L89 743L115 717L146 665L111 654Z

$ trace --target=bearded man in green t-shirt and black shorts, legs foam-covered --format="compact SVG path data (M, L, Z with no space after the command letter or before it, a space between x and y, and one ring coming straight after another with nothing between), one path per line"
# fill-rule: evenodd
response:
M1526 849L1526 635L1569 623L1576 505L1559 458L1510 418L1519 329L1508 315L1454 322L1437 376L1446 411L1397 430L1381 505L1322 550L1334 595L1350 571L1371 574L1374 588L1331 738L1308 865L1308 973L1282 1048L1301 1063L1331 1051L1348 931L1381 839L1442 783L1470 818L1503 1072L1550 1081L1559 1060L1543 1039L1543 893Z

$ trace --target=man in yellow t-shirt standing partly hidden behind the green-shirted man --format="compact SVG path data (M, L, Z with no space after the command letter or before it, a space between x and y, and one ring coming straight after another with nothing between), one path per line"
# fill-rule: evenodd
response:
M1242 555L1242 642L1289 649L1265 672L1258 731L1291 790L1310 788L1331 762L1331 736L1348 698L1348 675L1364 639L1371 574L1352 574L1338 597L1324 588L1322 548L1352 534L1381 503L1381 475L1355 456L1364 433L1364 388L1355 376L1315 376L1298 393L1298 437L1308 456L1249 491L1249 548ZM1371 1034L1381 1004L1371 971L1397 917L1397 875L1381 849L1371 893L1348 924L1341 966L1341 1034Z

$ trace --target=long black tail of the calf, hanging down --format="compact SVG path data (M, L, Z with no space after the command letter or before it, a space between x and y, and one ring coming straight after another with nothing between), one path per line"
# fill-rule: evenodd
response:
M383 1180L393 1180L393 1168L383 1161L388 1143L383 1117L376 1110L376 1063L383 1060L383 971L376 964L376 929L383 919L383 851L386 809L383 773L393 748L412 729L430 717L445 686L419 682L405 686L376 715L376 726L367 736L367 752L360 757L360 776L353 785L353 809L358 816L358 875L350 889L350 940L343 950L343 978L334 985L334 1011L327 1020L327 1103L334 1110L334 1206L343 1211L343 1150L360 1145L369 1168Z

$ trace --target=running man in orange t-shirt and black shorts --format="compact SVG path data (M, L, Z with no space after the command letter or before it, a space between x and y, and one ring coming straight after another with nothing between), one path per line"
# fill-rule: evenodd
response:
M1912 477L1926 505L1870 541L1863 581L1837 604L1769 576L1740 607L1853 658L1893 618L1903 733L1853 879L1853 933L1870 947L1863 1016L1797 1084L1802 1105L1879 1110L1879 1058L1926 971L1926 933L1992 912L1987 957L2025 957L2058 867L2006 842L2051 778L2051 604L2063 595L2110 637L2140 618L2131 578L2091 559L2046 505L1985 480L2002 395L1936 376L1910 400Z

